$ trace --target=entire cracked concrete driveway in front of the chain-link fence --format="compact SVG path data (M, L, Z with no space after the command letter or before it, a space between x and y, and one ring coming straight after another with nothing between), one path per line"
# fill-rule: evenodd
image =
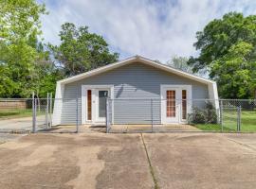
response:
M30 134L0 145L0 188L256 188L256 134Z

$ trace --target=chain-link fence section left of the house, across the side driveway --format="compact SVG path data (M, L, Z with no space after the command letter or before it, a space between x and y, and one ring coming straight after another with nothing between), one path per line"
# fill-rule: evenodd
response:
M52 104L48 98L0 99L0 132L36 132L51 127Z

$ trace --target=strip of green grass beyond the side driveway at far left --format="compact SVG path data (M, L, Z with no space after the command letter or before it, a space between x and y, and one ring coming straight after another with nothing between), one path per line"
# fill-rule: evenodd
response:
M18 117L29 117L32 116L32 110L1 110L0 111L0 119L10 119L10 118L18 118Z

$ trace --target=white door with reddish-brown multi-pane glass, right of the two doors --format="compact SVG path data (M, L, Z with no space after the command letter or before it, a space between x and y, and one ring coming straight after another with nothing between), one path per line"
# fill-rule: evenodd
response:
M164 123L178 123L180 115L180 90L167 88L163 91L163 118Z

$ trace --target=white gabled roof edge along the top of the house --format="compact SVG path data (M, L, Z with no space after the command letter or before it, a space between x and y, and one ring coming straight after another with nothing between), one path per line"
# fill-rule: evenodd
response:
M120 66L123 66L123 65L126 65L126 64L129 64L129 63L133 63L133 62L145 63L145 64L151 65L155 68L158 68L160 70L164 70L166 72L170 72L170 73L173 73L173 74L181 76L181 77L187 77L187 78L190 78L192 80L196 80L196 81L201 82L201 83L205 83L205 84L215 83L214 81L212 81L210 79L207 79L207 78L204 78L204 77L197 77L195 75L189 74L187 72L183 72L181 70L175 69L175 68L170 67L168 65L156 62L155 60L149 60L149 59L141 57L141 56L134 56L134 57L128 58L126 60L120 60L118 62L102 66L100 68L91 70L89 72L82 73L82 74L74 76L74 77L64 78L62 80L59 80L58 83L59 84L71 83L71 82L74 82L74 81L77 81L77 80L81 80L82 78L99 75L103 72L106 72L106 71L109 71L109 70L112 70L112 69L115 69L115 68L118 68Z

